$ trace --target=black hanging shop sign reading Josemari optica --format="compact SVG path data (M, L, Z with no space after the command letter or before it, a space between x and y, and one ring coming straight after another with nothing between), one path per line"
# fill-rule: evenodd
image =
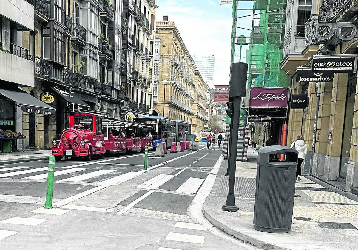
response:
M333 82L332 72L314 72L312 67L297 67L296 82Z

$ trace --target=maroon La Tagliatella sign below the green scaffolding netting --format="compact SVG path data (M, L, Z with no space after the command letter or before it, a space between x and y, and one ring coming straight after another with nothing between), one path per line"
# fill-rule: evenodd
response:
M250 90L250 107L280 107L288 104L288 88L253 87Z

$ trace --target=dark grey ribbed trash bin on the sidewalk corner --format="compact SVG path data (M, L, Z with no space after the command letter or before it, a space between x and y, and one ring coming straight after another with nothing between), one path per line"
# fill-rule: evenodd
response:
M284 154L285 161L270 160ZM253 227L267 233L289 233L295 199L298 151L275 145L258 150Z

